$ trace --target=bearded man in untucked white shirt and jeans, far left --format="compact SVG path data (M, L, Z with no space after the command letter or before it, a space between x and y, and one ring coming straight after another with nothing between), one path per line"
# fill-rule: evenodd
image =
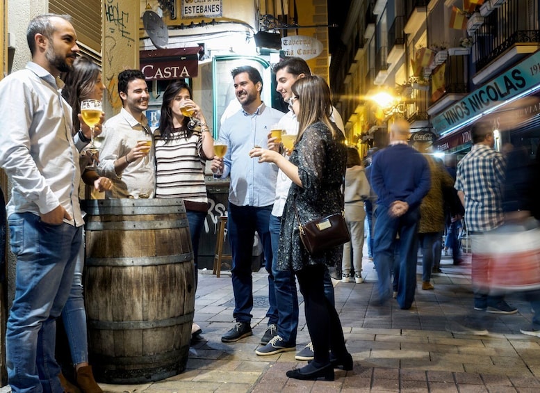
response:
M73 282L83 218L72 109L59 76L79 47L67 16L35 17L26 38L32 61L0 82L0 167L13 182L7 216L17 257L6 366L13 392L62 392L56 318Z

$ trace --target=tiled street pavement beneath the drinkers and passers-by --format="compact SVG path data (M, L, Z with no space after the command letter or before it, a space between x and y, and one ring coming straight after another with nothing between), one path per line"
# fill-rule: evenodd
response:
M364 254L366 255L366 254ZM470 257L469 257L470 258ZM421 263L417 266L421 283ZM190 348L182 374L144 385L100 384L105 392L540 392L540 339L522 335L530 323L530 305L518 294L507 296L518 314L496 316L488 336L457 335L445 330L472 307L470 259L459 266L443 257L443 273L434 275L434 291L417 287L410 310L395 300L377 305L373 263L363 262L363 284L334 282L352 371L336 369L336 380L289 380L285 371L301 367L295 352L257 356L268 309L268 278L254 273L253 336L232 344L220 338L234 320L230 273L215 278L199 273L195 322L204 341ZM303 305L297 350L309 342Z

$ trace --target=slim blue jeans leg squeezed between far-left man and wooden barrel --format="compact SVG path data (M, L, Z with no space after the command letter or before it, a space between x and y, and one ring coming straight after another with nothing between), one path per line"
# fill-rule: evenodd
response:
M71 291L62 310L62 321L74 365L88 362L88 332L83 298L84 231L81 231L81 236Z

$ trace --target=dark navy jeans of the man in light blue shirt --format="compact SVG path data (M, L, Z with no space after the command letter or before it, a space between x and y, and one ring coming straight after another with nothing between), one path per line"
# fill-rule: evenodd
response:
M252 253L255 231L259 233L268 271L268 300L270 308L266 313L268 323L277 323L276 296L272 277L272 242L270 241L269 220L272 205L265 207L236 206L229 203L227 234L231 243L232 284L234 292L233 316L238 322L249 322L253 308Z

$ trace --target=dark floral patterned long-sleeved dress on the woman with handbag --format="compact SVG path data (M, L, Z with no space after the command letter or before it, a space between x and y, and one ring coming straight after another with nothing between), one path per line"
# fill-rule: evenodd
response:
M303 187L291 185L284 214L281 218L277 268L281 271L299 271L309 265L341 264L343 246L313 257L300 240L295 204L302 223L321 218L343 209L341 186L345 176L347 151L344 137L336 128L338 136L322 122L309 126L295 145L289 161L298 167Z

